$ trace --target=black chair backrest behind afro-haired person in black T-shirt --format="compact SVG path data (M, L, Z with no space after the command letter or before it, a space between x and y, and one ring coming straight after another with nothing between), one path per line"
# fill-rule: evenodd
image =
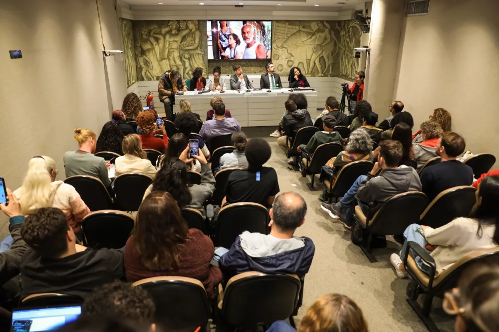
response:
M233 203L225 205L217 218L217 245L230 248L238 235L245 230L268 234L270 217L267 208L257 203Z

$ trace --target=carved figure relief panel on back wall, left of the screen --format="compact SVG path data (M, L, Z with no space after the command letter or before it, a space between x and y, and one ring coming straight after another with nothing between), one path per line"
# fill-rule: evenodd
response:
M206 21L132 21L132 31L138 81L156 81L173 69L184 78L196 67L207 71Z

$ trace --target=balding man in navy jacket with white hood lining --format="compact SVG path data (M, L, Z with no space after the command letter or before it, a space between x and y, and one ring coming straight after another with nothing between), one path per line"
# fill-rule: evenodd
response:
M307 204L296 192L278 195L270 209L270 234L243 232L220 259L224 279L260 271L270 274L296 274L303 277L312 264L315 246L308 237L294 236L305 222Z

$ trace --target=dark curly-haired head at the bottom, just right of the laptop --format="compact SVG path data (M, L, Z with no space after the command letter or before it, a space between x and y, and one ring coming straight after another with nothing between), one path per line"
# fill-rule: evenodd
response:
M156 306L148 291L122 281L97 287L81 306L82 317L107 316L152 324Z

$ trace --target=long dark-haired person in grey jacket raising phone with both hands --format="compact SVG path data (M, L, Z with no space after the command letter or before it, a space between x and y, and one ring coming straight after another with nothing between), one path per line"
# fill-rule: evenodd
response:
M173 196L181 208L192 207L206 216L204 205L215 191L215 178L200 150L199 156L194 156L194 158L201 163L201 183L188 185L186 164L191 164L193 161L188 158L188 154L189 147L179 158L163 159L153 184L146 189L142 199L144 200L151 191L166 191Z

